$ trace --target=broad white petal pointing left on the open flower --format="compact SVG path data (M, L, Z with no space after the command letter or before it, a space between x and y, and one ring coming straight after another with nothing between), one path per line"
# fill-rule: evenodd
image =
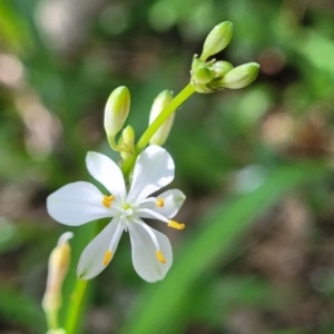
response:
M68 184L47 198L49 215L57 222L78 226L85 223L111 217L112 209L102 205L104 195L92 184L78 181Z

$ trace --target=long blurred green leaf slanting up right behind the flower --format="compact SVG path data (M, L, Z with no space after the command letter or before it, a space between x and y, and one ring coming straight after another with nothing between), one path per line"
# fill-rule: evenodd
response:
M202 219L198 229L175 256L167 278L149 285L140 296L121 333L175 333L184 318L184 302L195 294L200 276L215 271L215 264L227 261L252 223L287 190L323 178L328 168L320 163L278 167L252 193L220 203ZM191 227L188 227L190 229Z

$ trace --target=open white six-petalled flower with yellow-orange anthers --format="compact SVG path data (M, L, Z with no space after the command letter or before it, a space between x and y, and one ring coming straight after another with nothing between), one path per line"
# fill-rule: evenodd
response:
M90 151L86 165L91 176L106 187L107 195L90 183L77 181L47 199L50 216L61 224L78 226L112 218L84 249L77 269L79 278L92 278L105 269L126 230L130 235L132 263L138 275L147 282L163 279L173 262L170 243L141 218L159 219L177 229L185 227L171 220L185 200L180 190L147 197L173 180L175 166L170 155L161 147L147 147L137 158L128 193L120 168L107 156Z

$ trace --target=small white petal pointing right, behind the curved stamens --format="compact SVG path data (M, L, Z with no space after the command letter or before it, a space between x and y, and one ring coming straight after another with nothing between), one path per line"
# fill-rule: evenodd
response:
M157 198L163 198L164 199L164 206L158 207L156 206L155 203L148 202L148 203L143 203L139 206L140 208L148 208L155 213L160 214L161 216L170 219L173 218L184 204L186 196L185 194L179 190L179 189L169 189L167 191L164 191L163 194L158 195ZM150 215L149 213L140 213L139 216L141 218L153 218L155 219L156 217L154 215Z

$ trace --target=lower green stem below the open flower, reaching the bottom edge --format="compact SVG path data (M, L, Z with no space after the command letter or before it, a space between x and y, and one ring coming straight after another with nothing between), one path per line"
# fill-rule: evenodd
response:
M76 334L80 313L84 305L84 298L87 291L88 281L78 279L71 295L69 311L66 318L66 334Z

